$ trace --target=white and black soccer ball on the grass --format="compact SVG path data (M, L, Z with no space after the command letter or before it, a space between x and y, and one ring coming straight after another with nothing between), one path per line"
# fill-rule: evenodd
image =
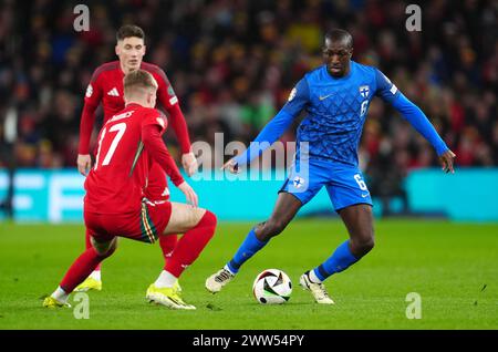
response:
M282 304L290 299L292 282L282 270L267 269L256 277L252 293L261 304Z

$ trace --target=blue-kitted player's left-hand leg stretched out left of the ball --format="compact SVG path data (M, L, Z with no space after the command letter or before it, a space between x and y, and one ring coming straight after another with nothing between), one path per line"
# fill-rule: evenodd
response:
M280 193L270 219L249 231L234 258L224 268L207 278L206 289L211 293L219 292L235 278L240 267L268 244L271 237L283 231L301 206L301 201L293 195Z

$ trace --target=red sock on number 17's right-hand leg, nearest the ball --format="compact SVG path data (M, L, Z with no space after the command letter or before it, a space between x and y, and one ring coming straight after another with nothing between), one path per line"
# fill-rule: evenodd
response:
M181 272L199 257L203 249L215 235L216 216L206 210L196 227L185 232L178 240L172 257L167 260L164 270L170 272L175 277L179 277ZM168 236L163 236L168 237Z

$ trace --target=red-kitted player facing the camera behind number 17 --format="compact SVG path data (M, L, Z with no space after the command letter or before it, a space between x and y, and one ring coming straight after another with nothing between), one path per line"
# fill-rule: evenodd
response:
M123 77L131 71L142 69L148 71L158 83L157 99L167 111L170 125L175 131L181 149L181 164L188 176L197 170L197 161L190 149L190 139L184 115L178 104L178 99L164 73L164 71L142 59L145 54L145 34L136 25L123 25L116 34L117 44L115 48L118 61L105 63L97 68L93 73L86 94L85 104L81 117L80 126L80 146L77 155L77 168L82 175L86 175L91 167L90 138L95 123L95 110L102 102L104 110L104 123L114 114L124 108L123 100ZM151 175L146 188L146 197L151 201L163 201L169 199L166 175L162 168L153 163L151 165ZM177 236L162 237L160 248L165 259L169 258ZM91 247L90 236L86 232L86 248ZM102 289L101 267L97 266L87 280L85 280L77 291L90 289Z

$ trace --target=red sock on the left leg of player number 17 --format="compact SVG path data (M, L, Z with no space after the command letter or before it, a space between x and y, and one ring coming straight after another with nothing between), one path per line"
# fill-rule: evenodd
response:
M105 258L111 256L114 250L110 250L105 256L98 256L96 250L91 247L86 249L77 259L73 262L71 268L65 273L61 281L60 287L65 293L71 293L76 286L84 281L95 270L95 267Z

